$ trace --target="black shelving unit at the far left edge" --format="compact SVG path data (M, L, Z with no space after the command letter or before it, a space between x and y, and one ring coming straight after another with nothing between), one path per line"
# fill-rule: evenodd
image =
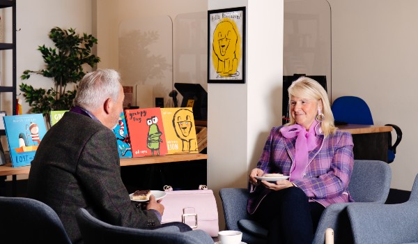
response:
M0 86L0 93L11 92L12 93L12 114L17 114L17 87L16 87L16 1L15 0L0 0L0 8L12 8L12 43L0 43L0 52L1 50L12 50L12 86ZM6 72L6 70L2 70ZM0 130L0 135L6 135L4 130Z

